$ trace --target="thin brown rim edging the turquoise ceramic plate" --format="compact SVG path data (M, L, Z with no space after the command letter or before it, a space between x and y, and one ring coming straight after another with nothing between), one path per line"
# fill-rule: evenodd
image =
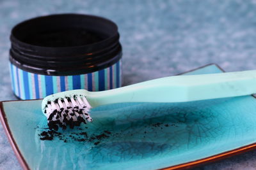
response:
M218 64L206 64L205 66L201 66L201 67L197 67L195 69L191 69L190 71L186 71L184 73L189 73L191 71L195 71L196 69L201 69L207 66L212 66L215 65L216 67L218 67L219 69L221 69L221 71L225 72L220 66L218 66ZM180 73L180 74L184 74L184 73ZM180 75L177 74L177 75ZM256 99L255 96L252 95L252 97L254 97ZM26 162L26 160L24 159L22 153L19 150L19 146L17 145L15 139L13 138L12 132L10 130L10 127L8 125L8 120L6 118L6 114L4 113L4 108L3 108L3 103L8 103L8 102L17 102L17 101L37 101L37 100L42 100L42 99L30 99L30 100L12 100L12 101L0 101L0 122L3 125L3 129L4 132L8 138L8 141L10 142L10 145L12 146L12 149L15 153L15 156L17 157L17 159L20 162L20 166L25 169L25 170L29 170L29 166L28 163ZM196 167L196 166L202 166L204 164L208 164L210 162L215 162L218 160L222 160L228 157L232 157L234 155L238 155L244 152L249 152L250 150L254 150L256 148L256 143L252 143L250 145L245 145L245 146L241 146L239 148L236 148L234 150L228 150L227 152L222 152L216 155L212 155L210 157L205 157L203 159L197 159L197 160L193 160L190 162L185 162L182 164L178 164L178 165L174 165L174 166L168 166L168 167L163 167L159 170L176 170L176 169L189 169L192 167Z

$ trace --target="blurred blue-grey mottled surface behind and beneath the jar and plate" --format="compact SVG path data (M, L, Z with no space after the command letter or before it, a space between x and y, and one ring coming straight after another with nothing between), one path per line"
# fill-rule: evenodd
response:
M116 22L123 46L124 85L219 64L256 68L255 0L1 0L0 101L15 99L8 71L13 25L51 13L87 13ZM0 169L20 169L0 125ZM256 151L196 169L256 169Z

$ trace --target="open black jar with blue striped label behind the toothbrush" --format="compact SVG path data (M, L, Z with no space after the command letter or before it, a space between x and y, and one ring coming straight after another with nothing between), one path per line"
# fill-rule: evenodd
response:
M12 89L20 99L121 86L122 46L114 22L61 14L26 20L10 36Z

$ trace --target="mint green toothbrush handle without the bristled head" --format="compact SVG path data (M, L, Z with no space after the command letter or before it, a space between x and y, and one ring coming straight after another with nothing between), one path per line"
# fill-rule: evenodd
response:
M93 107L127 102L174 103L256 93L256 70L170 76L102 92L86 92Z

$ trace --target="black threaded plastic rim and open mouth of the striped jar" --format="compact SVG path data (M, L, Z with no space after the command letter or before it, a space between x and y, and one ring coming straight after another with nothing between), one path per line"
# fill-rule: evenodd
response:
M16 25L10 61L25 71L49 75L92 73L122 57L118 28L102 17L49 15Z

